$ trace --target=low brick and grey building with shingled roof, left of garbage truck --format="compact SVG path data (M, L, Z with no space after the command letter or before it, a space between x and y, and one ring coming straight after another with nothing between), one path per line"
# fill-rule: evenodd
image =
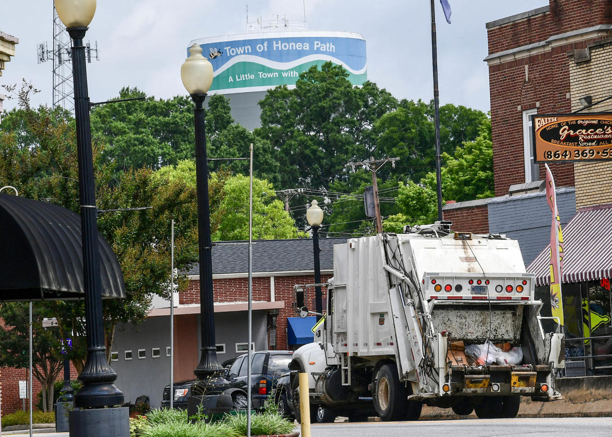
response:
M346 239L319 240L322 282L326 282L333 272L333 245L342 242ZM215 340L217 358L223 363L246 353L248 348L247 242L215 244L212 261ZM288 319L297 316L293 286L312 285L315 281L312 239L253 242L252 272L253 349L297 348L299 345L288 344L288 332L292 329ZM199 273L199 267L195 266L188 272L187 289L175 293L174 381L193 379L193 369L200 360ZM310 288L307 300L311 309L314 308L313 297ZM163 387L170 383L169 348L170 304L167 301L155 299L154 308L143 324L118 326L111 365L118 374L116 386L124 392L126 402L133 402L144 394L149 396L152 406L160 405Z

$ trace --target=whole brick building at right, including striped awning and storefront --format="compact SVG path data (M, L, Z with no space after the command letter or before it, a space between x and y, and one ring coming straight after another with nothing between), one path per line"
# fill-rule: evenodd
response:
M533 159L531 116L612 111L612 1L550 0L487 23L487 34L496 197L447 204L444 217L457 230L518 239L527 269L536 275L536 296L547 303L551 212L545 168ZM612 164L548 165L565 242L561 282L569 371L605 373L610 360L596 357L612 354L608 338L572 338L612 335ZM542 313L550 315L550 305Z

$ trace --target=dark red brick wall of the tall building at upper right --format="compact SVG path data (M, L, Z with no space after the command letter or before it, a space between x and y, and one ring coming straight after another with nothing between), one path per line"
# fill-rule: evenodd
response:
M605 0L551 0L550 10L488 29L489 53L499 53L549 37L612 23L612 6ZM540 114L569 113L570 63L568 53L584 49L592 37L543 48L540 53L518 53L515 59L490 61L491 129L495 195L508 192L510 185L525 181L523 152L523 111L537 108ZM497 63L496 63L497 62ZM609 94L608 94L609 95ZM540 179L544 177L539 166ZM558 187L574 185L573 165L550 165Z

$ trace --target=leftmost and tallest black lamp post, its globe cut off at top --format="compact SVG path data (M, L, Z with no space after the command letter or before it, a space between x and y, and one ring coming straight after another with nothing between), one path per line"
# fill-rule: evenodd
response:
M117 374L108 365L102 321L102 283L98 248L97 207L95 206L94 165L89 124L89 95L83 37L94 18L95 0L55 0L55 9L72 38L76 147L78 149L79 199L83 240L83 280L87 356L79 375L83 388L75 395L77 407L120 405L123 393L113 382Z

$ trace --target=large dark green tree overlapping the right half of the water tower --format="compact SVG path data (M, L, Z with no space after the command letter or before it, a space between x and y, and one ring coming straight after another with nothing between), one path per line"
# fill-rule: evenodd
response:
M349 179L347 162L369 157L375 119L396 104L373 83L353 86L343 67L326 62L302 73L295 89L268 91L255 132L277 151L280 187L327 189Z

